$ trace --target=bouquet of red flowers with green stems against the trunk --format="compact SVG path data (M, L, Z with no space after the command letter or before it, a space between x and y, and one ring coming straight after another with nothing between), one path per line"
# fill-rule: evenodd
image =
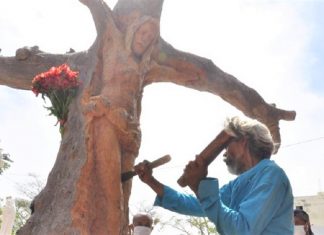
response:
M78 72L72 71L67 64L62 64L36 75L32 81L32 91L36 96L41 94L44 100L47 97L51 101L52 106L46 108L50 111L50 115L56 116L56 125L60 124L62 135L68 117L69 105L76 96L80 85L78 74Z

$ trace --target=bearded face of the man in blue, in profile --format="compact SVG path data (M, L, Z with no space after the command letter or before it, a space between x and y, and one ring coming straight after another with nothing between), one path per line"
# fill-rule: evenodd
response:
M244 172L245 162L243 154L245 151L245 140L232 140L226 148L224 153L224 162L227 165L227 169L231 174L240 175Z

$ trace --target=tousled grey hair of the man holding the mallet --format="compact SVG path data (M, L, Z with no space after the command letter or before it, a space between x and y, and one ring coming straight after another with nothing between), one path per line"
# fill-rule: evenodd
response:
M274 151L270 131L261 122L235 116L226 119L224 130L238 139L246 138L250 153L260 160L270 158Z

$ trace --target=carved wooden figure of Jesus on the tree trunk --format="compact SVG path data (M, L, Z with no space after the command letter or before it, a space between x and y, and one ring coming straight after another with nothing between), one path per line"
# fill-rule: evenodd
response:
M122 199L127 214L131 181L125 182L122 190L111 189L120 188L121 172L131 170L138 155L142 93L147 63L158 32L159 25L155 19L142 17L127 29L126 43L119 45L118 54L104 47L103 79L100 88L97 88L99 94L91 96L86 92L83 97L86 133L92 136L88 139L87 152L92 154L91 159L101 162L96 171L104 196L109 198L108 204L111 203L106 206L114 207L114 203ZM110 55L117 55L113 64ZM95 88L90 86L90 89ZM111 177L110 172L108 177L107 171L116 171L116 174ZM116 224L122 218L123 215L117 215L116 211L107 213L107 219L115 220Z

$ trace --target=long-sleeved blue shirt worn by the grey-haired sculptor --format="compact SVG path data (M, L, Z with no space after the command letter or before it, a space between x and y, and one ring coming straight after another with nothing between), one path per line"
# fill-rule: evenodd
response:
M264 159L224 185L209 178L200 182L198 198L164 186L154 205L171 211L207 216L220 234L292 235L293 195L285 172Z

